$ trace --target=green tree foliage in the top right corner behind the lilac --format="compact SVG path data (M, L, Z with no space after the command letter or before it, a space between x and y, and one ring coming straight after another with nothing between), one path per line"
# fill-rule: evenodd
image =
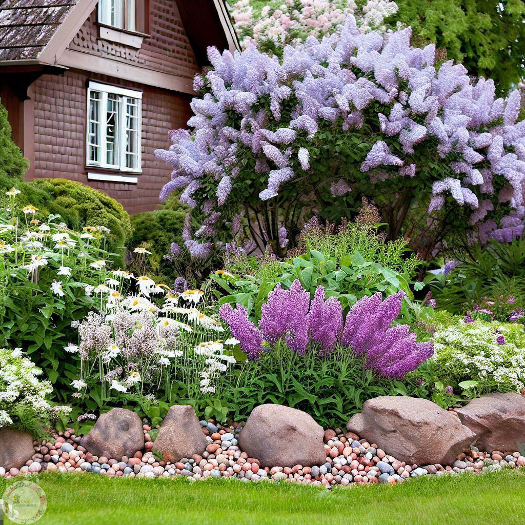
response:
M414 44L432 41L474 76L508 89L524 74L525 2L522 0L396 0L389 22L412 26Z

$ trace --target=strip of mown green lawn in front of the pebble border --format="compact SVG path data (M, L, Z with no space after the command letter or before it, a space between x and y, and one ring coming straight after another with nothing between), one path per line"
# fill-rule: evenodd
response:
M46 491L39 525L523 525L525 474L427 476L402 485L317 487L209 479L33 478ZM0 496L11 481L0 478ZM6 519L5 523L9 521ZM10 522L9 522L10 523Z

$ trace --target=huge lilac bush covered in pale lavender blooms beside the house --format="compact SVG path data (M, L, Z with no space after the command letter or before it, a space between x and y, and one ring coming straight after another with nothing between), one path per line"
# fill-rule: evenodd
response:
M191 131L156 155L173 167L163 201L182 192L202 226L184 232L195 257L240 240L277 255L312 214L341 217L374 201L392 238L429 259L447 239L507 239L523 229L525 122L518 91L496 98L411 29L339 33L286 46L282 59L249 46L195 78ZM328 217L327 217L328 215ZM288 243L281 248L283 230ZM242 229L241 229L242 230Z

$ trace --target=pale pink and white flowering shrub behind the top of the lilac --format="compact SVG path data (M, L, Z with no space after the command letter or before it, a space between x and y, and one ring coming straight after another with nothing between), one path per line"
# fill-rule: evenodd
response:
M232 17L243 48L255 44L259 49L282 54L287 45L297 45L307 37L321 38L340 30L348 15L354 15L362 33L384 31L383 20L397 12L388 0L272 0L258 13L249 0L232 5Z

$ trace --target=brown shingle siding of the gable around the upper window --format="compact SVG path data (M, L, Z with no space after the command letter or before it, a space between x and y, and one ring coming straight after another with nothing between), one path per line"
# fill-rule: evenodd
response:
M139 65L145 69L193 78L199 71L195 55L173 0L150 0L150 38L141 49L98 39L97 10L71 41L69 49ZM148 72L144 71L144 75Z

